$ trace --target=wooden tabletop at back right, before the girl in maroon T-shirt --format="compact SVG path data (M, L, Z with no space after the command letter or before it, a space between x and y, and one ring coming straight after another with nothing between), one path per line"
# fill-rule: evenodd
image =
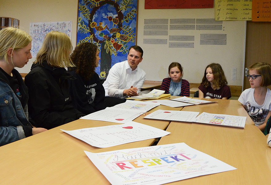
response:
M193 98L199 99L199 98ZM248 113L241 105L238 100L220 100L220 99L205 99L202 100L207 101L217 101L216 103L202 104L202 105L191 105L186 106L182 110L183 111L194 111L194 112L206 112L212 114L229 114L234 116L245 116L246 124L254 125L254 122L249 117Z

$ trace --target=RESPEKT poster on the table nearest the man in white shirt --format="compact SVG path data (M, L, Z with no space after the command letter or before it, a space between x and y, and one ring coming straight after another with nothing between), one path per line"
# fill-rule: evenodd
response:
M142 101L132 101L126 100L126 102L115 105L113 108L118 109L131 109L131 110L139 110L140 112L148 112L149 110L153 109L154 107L159 106L159 103L153 103L151 101L142 102ZM111 107L112 108L112 107Z

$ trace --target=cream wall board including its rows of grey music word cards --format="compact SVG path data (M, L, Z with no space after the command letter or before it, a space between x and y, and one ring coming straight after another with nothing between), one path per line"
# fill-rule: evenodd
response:
M146 80L162 81L168 66L180 62L183 79L200 83L205 67L221 64L229 85L242 85L245 21L215 21L214 8L144 9L138 5L137 44Z

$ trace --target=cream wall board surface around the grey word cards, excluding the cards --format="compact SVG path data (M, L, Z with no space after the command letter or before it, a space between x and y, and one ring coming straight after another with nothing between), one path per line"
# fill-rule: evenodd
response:
M138 6L137 45L144 51L139 64L146 80L162 81L168 77L168 66L179 62L184 68L183 79L201 83L210 63L219 63L229 85L243 84L246 21L223 21L222 30L170 30L170 19L214 19L214 8L204 9L144 9ZM144 35L144 19L168 19L168 35ZM146 31L146 30L145 30ZM226 34L226 45L200 45L200 34ZM170 48L169 35L194 35L194 48ZM167 39L167 44L144 44L144 39ZM236 69L236 80L232 80Z

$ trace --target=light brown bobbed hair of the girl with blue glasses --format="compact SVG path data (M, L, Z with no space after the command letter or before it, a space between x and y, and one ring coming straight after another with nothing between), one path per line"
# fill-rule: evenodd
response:
M271 65L266 62L257 62L249 66L249 70L256 69L257 73L262 76L261 87L271 85Z

